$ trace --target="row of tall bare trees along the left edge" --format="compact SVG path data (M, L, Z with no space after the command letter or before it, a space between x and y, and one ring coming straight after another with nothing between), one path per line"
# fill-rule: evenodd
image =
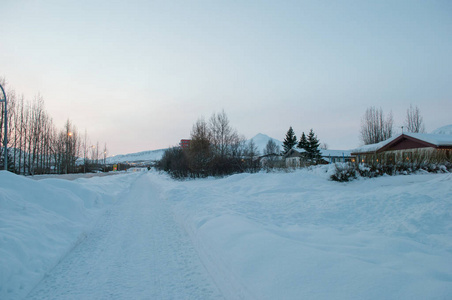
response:
M4 79L0 78L0 84L5 88ZM62 129L58 129L45 110L42 96L36 96L32 101L26 101L23 95L17 96L14 89L6 90L9 171L16 174L35 175L74 173L98 168L98 143L97 149L94 149L93 146L90 147L86 133L82 139L70 120L65 123ZM2 151L0 168L2 170L5 164L3 148L5 139L4 109L5 105L1 105L0 140ZM102 154L105 159L106 145ZM77 160L81 157L84 159L77 163Z

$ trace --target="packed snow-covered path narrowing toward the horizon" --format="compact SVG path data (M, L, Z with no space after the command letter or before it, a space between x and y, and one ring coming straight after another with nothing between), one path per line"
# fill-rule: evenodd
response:
M222 298L145 174L27 299Z

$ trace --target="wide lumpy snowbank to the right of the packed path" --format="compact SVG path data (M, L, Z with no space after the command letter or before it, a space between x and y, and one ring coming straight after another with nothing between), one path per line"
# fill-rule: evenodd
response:
M452 175L328 173L182 182L166 197L228 299L449 297Z

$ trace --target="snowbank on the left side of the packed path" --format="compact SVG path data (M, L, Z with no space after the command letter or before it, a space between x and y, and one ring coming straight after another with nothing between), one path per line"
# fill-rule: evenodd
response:
M0 299L24 297L132 179L35 181L0 171Z

